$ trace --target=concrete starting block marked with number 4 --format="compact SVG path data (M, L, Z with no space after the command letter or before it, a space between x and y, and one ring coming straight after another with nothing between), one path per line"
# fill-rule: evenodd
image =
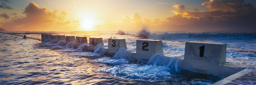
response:
M95 46L98 44L104 45L102 38L90 38L89 41L90 42L88 50L90 51L94 50Z

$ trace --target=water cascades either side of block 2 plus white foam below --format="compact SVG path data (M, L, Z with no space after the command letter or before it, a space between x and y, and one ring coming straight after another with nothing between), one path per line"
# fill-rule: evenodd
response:
M98 58L93 62L101 64L112 64L98 69L99 72L113 74L125 80L140 81L165 81L177 79L172 78L170 72L180 72L181 57L165 57L161 53L155 54L147 64L131 64L129 61L131 52L120 49L114 57Z

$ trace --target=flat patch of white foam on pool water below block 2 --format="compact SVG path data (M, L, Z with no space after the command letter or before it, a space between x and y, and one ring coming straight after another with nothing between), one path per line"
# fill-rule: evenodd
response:
M158 65L141 65L141 64L119 64L98 69L99 72L113 74L124 80L139 81L166 81L173 79L170 69Z

